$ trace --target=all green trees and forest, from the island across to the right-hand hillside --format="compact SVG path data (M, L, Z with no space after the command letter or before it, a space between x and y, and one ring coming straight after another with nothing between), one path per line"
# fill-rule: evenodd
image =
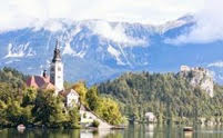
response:
M65 108L64 97L28 88L27 78L11 68L0 70L0 126L80 128L79 106ZM84 107L111 125L128 119L144 122L145 112L154 112L158 122L200 122L201 118L223 122L223 87L215 83L211 98L179 73L128 72L90 88L82 81L64 86L74 89Z

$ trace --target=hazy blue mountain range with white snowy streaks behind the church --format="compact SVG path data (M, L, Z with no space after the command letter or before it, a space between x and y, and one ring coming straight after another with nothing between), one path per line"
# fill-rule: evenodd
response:
M179 71L181 65L209 68L221 82L222 41L174 45L170 40L196 26L193 16L160 26L104 20L36 21L27 28L0 33L0 68L7 66L40 75L49 68L58 39L65 79L89 85L125 71Z

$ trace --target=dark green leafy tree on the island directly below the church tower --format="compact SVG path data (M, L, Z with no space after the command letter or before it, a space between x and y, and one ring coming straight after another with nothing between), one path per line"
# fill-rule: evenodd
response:
M48 127L61 127L69 119L62 97L55 97L53 91L39 91L32 110L36 122Z

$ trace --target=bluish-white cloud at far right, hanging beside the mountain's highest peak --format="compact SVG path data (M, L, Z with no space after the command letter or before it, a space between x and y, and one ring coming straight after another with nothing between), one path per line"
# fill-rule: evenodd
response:
M205 1L204 8L195 13L196 24L186 34L181 34L166 42L181 43L207 43L223 40L223 17L221 13L223 0Z

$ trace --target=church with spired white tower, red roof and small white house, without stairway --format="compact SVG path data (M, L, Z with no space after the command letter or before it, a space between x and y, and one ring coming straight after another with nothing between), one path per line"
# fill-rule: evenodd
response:
M63 62L58 41L50 63L50 76L48 76L47 70L43 71L42 76L31 76L27 80L27 86L43 90L51 89L55 96L62 95L65 98L67 107L79 103L79 93L73 89L65 90L63 87Z

